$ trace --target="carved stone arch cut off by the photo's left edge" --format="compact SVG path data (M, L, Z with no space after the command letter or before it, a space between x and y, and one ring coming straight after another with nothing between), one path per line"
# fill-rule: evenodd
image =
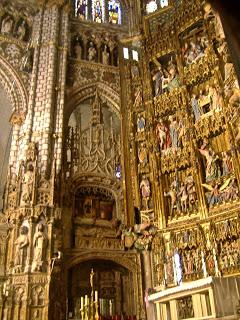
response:
M19 75L14 68L0 55L0 82L11 101L13 113L27 113L28 95Z

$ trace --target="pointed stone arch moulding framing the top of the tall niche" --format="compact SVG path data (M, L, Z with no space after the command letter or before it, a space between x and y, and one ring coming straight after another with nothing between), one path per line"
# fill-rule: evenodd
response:
M95 96L96 90L99 92L99 96L103 101L106 101L118 117L120 117L120 96L119 94L107 86L105 83L96 82L89 83L78 87L71 91L71 98L66 107L66 122L68 121L73 110L82 102Z

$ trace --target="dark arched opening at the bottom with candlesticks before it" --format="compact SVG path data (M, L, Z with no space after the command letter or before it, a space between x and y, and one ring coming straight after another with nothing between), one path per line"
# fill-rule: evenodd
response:
M82 319L81 308L86 308L86 301L91 307L92 292L100 319L136 319L133 282L133 273L112 260L93 259L73 266L68 270L69 319Z

